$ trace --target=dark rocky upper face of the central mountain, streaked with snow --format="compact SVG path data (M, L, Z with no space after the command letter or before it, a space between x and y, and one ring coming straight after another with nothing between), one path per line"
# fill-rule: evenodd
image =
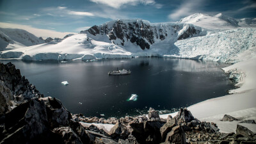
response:
M191 36L197 36L201 28L191 24L161 23L151 24L147 20L113 20L100 26L81 31L80 33L90 34L93 39L102 36L116 45L125 45L131 42L139 45L141 49L150 49L150 45L161 41L174 42ZM101 36L99 36L101 35Z

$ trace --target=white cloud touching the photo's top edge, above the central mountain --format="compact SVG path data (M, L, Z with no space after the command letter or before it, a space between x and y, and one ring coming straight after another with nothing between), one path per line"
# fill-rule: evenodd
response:
M93 3L100 3L100 4L106 4L108 6L111 6L112 8L120 8L122 5L129 4L129 5L137 5L139 3L145 4L145 5L156 5L155 0L90 0ZM158 4L156 5L156 8L161 8L163 5Z

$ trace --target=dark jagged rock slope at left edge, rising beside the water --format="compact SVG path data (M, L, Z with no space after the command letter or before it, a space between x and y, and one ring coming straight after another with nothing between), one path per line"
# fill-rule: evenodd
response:
M0 63L0 114L12 110L13 104L15 107L24 100L43 96L33 84L29 84L28 79L20 76L15 65Z

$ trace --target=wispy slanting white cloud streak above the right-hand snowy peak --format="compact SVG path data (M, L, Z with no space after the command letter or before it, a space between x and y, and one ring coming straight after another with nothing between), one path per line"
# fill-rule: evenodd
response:
M204 0L186 0L184 3L182 3L177 10L174 10L173 13L168 15L169 19L180 19L181 17L191 15L200 8L204 4Z

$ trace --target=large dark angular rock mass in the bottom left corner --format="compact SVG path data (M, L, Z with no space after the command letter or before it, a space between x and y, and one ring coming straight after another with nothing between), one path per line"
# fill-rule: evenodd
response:
M58 100L31 99L6 113L2 143L26 143L45 136L56 127L67 126L70 113ZM47 136L47 135L46 135ZM40 141L38 142L40 143Z

